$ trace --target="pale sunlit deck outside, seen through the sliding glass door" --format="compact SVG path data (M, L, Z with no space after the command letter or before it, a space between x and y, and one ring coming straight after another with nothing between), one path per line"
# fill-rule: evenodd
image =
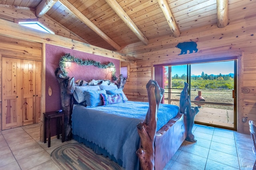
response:
M199 113L194 119L195 121L231 128L234 127L234 110L214 109L203 106L199 110Z

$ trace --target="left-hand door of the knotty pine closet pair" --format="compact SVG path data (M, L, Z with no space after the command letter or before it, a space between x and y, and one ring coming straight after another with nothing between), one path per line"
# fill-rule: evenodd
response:
M2 57L2 130L20 126L20 59Z

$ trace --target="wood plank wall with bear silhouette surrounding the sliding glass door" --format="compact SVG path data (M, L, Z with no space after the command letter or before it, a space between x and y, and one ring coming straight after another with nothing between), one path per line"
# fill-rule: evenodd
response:
M151 39L147 46L135 43L124 47L121 53L136 58L136 63L130 65L130 78L124 86L128 99L148 101L146 83L152 78L153 64L200 63L237 56L238 131L249 133L248 121L242 123L242 117L256 121L256 15L236 16L236 20L230 20L224 28L210 24L182 32L178 38L166 36ZM179 55L180 49L175 46L186 41L195 41L198 53ZM248 87L250 92L242 93L242 87Z

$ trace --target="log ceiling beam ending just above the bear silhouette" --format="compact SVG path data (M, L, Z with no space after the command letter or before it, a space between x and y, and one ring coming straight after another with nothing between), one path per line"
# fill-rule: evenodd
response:
M170 29L172 30L174 37L180 37L180 30L178 28L178 25L176 24L174 17L172 16L172 12L166 2L166 0L157 0L158 4L164 13L164 16L168 22L168 25Z

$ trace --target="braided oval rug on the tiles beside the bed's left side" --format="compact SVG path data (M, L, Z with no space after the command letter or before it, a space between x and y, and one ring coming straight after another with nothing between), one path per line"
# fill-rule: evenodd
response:
M82 143L62 145L52 151L51 158L62 170L121 170L117 163Z

